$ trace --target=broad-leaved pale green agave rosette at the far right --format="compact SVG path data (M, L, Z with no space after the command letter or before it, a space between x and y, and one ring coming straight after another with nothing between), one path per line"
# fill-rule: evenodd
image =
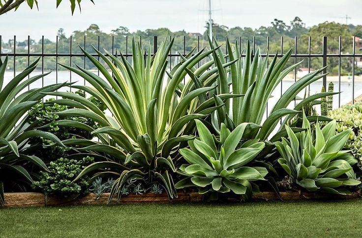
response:
M351 194L347 188L361 184L351 167L357 160L350 151L341 150L351 129L335 134L333 120L322 129L317 121L312 130L305 116L302 127L305 131L293 132L286 126L288 139L275 142L279 164L294 183L308 191Z

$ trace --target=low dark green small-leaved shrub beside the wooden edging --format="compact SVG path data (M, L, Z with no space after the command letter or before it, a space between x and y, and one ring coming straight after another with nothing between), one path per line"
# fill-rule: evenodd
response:
M88 177L85 176L77 182L72 182L75 177L89 164L94 161L92 157L85 157L80 160L60 158L51 161L49 171L41 171L39 181L35 181L33 188L45 194L72 194L88 193Z

